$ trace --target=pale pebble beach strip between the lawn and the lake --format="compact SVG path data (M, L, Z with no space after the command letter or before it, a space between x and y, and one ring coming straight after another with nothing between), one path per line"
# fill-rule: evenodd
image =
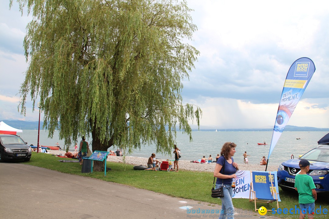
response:
M64 154L64 151L61 150L48 150L50 154ZM108 156L107 161L110 162L117 162L122 163L123 157L117 157L117 156ZM132 157L132 156L126 156L125 162L127 164L133 164L133 165L145 165L147 164L148 158L144 157ZM165 159L157 159L158 161L165 161ZM173 164L173 162L172 162ZM199 164L199 163L191 163L190 161L184 161L180 160L179 163L179 169L185 169L185 170L193 170L193 171L203 171L203 172L213 172L215 169L215 163L210 164ZM265 171L264 165L257 165L257 164L239 164L240 170L255 170L255 171ZM277 165L268 165L267 171L276 171L278 169Z

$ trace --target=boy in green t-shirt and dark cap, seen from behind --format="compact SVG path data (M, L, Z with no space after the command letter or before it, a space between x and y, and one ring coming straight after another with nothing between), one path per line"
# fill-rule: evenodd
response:
M316 191L313 179L306 173L310 170L310 162L301 159L299 162L300 173L295 177L295 190L298 191L298 201L300 214L299 218L304 218L308 212L308 218L313 218L315 212ZM304 212L304 213L303 213Z

